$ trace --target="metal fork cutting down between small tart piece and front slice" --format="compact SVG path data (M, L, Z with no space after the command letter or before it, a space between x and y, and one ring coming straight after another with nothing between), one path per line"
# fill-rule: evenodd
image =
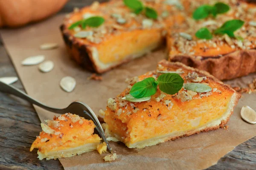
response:
M0 82L0 91L2 91L3 93L8 93L8 94L12 94L17 97L20 97L34 105L37 105L37 106L44 108L45 110L53 112L53 113L60 113L60 114L73 113L73 114L79 115L81 117L84 117L85 119L92 120L94 122L94 124L96 125L95 128L96 128L97 132L99 133L99 136L101 136L103 141L107 144L108 151L111 153L112 149L108 144L108 141L106 139L106 136L104 134L102 126L100 125L99 119L97 118L97 116L95 115L93 110L88 105L86 105L82 102L72 102L67 108L63 108L63 109L51 108L51 107L44 105L43 103L33 99L29 95L25 94L23 91L20 91L19 89L15 88L13 86L7 85L3 82Z

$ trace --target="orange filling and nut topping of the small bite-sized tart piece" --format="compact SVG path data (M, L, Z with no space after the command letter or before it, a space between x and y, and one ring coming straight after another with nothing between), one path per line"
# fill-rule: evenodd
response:
M99 136L93 134L95 127L93 121L78 115L65 113L45 122L47 125L41 123L42 132L37 136L30 150L34 148L40 148L41 151L54 150L61 146L69 147L100 141Z

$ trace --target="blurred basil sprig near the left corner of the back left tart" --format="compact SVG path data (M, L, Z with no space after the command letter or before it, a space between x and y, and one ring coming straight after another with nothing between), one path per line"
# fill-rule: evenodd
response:
M84 29L86 28L86 26L89 27L99 27L101 26L103 23L105 22L103 17L99 17L99 16L93 16L90 18L87 18L85 20L79 20L76 23L73 23L69 29L73 29L76 28L77 26L80 26Z

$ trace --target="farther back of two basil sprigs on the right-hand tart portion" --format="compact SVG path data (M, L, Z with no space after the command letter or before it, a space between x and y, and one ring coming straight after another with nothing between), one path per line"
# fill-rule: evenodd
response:
M230 7L225 3L215 3L214 6L202 5L199 6L193 13L195 20L207 18L210 14L216 17L217 14L223 14L230 10Z

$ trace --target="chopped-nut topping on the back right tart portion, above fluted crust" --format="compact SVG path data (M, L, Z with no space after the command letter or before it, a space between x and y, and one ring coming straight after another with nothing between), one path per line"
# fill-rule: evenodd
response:
M189 54L192 56L198 56L198 51L201 51L202 54L207 55L207 51L214 50L217 52L219 51L219 54L217 56L213 54L211 57L221 57L221 50L224 50L224 45L227 45L227 47L230 47L234 50L252 49L256 47L256 6L253 4L248 4L245 2L238 3L237 0L221 0L221 2L226 3L230 6L230 11L228 11L227 13L219 14L216 18L207 17L206 19L198 21L194 20L191 17L192 13L199 6L203 4L213 5L216 2L219 1L198 0L187 2L189 3L189 8L181 11L180 14L184 18L184 21L182 23L176 22L173 28L169 30L169 34L173 39L173 46L170 48L172 48L172 51L177 51L177 53L175 52L171 54ZM200 40L195 37L196 31L198 31L200 28L206 27L209 29L210 32L213 32L217 28L221 27L221 25L226 21L234 19L243 20L245 22L244 26L235 32L235 35L237 37L241 37L243 40L230 38L227 36L227 34L213 34L213 38L211 40ZM183 34L183 31L185 31L186 35Z

